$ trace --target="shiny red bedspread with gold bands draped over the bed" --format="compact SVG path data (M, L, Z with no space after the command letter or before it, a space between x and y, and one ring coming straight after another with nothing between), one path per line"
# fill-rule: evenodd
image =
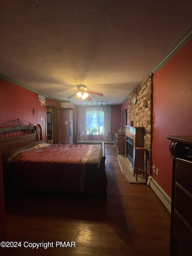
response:
M16 150L8 157L13 188L87 192L98 189L94 183L99 179L101 146L45 143L24 150Z

